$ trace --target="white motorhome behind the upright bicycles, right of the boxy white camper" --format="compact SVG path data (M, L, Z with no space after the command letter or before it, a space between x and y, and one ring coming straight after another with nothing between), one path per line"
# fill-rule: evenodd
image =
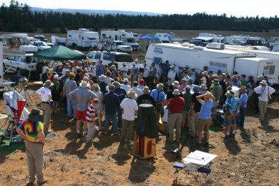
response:
M119 31L100 31L100 36L102 38L113 38L114 40L121 40L133 48L133 50L137 50L139 44L135 41L135 36L133 33L128 33L124 30Z

